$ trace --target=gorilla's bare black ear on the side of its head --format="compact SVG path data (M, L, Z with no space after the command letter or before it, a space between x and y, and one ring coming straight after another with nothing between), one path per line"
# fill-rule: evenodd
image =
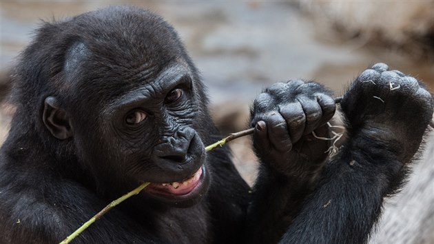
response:
M48 96L43 106L42 120L51 134L65 140L72 136L72 125L68 113L60 108L54 96Z

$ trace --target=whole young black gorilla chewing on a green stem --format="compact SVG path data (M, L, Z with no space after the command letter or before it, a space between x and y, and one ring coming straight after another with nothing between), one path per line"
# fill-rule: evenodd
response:
M219 137L206 92L161 17L112 7L44 23L14 70L0 242L59 242L143 182L151 185L74 241L366 241L433 112L415 79L386 70L374 65L345 94L349 136L331 158L317 138L335 112L326 88L289 81L260 94L251 192L227 150L205 153Z

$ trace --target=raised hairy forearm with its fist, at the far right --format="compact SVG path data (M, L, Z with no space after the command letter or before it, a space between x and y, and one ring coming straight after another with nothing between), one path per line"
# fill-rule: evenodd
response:
M353 82L341 107L349 139L327 163L282 243L366 243L384 196L402 185L433 99L414 78L380 63Z

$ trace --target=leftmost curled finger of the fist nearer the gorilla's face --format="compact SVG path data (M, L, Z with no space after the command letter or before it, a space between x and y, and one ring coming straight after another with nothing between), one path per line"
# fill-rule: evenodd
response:
M268 114L267 132L268 139L271 145L273 145L273 148L279 152L291 150L292 143L288 133L287 121L283 119L279 112L275 111Z

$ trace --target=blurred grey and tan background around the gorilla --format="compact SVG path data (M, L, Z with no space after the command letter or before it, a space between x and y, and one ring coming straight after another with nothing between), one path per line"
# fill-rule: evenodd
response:
M420 1L10 1L0 2L0 144L13 108L10 69L41 21L110 5L153 10L178 30L211 96L223 132L246 127L251 100L271 83L313 79L342 94L378 62L434 88L434 0ZM431 90L433 91L433 90ZM432 138L432 137L431 137ZM371 243L434 243L433 139L409 185L388 200ZM248 138L231 143L253 183ZM428 156L431 154L431 156ZM0 172L1 174L1 172Z

